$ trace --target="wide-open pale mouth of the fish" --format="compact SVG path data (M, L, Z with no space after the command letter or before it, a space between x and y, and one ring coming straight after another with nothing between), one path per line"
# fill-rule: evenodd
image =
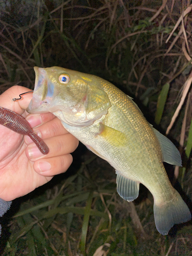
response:
M52 112L50 103L53 97L54 84L48 79L45 69L34 67L34 71L35 87L33 98L26 111L30 114Z

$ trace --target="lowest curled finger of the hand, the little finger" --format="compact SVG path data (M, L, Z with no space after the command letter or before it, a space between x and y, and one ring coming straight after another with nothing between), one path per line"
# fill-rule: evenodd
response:
M54 176L63 172L69 168L73 161L73 157L70 154L40 159L34 162L33 168L36 173L43 176Z

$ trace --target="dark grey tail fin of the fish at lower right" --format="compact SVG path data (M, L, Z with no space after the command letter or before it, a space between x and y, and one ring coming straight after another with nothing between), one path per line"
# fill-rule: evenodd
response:
M189 208L175 190L175 198L163 202L162 204L155 204L154 202L154 217L157 230L165 235L174 224L189 221L191 214Z

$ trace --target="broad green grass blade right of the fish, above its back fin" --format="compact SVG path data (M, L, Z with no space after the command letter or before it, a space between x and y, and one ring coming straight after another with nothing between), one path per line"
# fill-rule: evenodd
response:
M165 102L167 99L168 90L169 90L169 83L165 83L164 86L162 87L162 90L159 94L158 101L157 101L157 111L155 115L156 124L159 124L161 121L161 117L165 107Z

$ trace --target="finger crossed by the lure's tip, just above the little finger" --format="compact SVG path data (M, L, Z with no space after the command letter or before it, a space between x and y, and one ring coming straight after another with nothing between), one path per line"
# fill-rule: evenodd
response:
M72 153L78 146L78 140L70 133L45 139L44 141L49 147L49 154L43 155L40 153L35 143L31 143L26 148L26 155L31 161L36 161L41 158L67 155Z

